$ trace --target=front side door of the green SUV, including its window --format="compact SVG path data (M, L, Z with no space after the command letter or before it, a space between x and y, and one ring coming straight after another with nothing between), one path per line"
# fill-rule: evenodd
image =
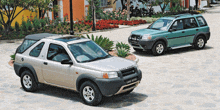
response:
M176 20L169 29L168 47L180 46L185 43L185 30L183 29L183 20Z

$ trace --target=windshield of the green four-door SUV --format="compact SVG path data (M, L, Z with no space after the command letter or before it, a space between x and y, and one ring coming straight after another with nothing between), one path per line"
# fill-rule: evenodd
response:
M155 21L148 29L155 29L155 30L167 30L172 20L169 19L158 19Z

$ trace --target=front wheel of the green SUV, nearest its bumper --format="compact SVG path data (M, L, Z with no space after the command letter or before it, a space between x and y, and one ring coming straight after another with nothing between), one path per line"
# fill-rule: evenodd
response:
M162 55L164 51L165 51L165 43L162 41L157 41L152 48L153 55L155 56Z

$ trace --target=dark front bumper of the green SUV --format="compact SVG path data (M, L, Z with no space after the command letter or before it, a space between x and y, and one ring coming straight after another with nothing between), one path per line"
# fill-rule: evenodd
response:
M152 49L155 43L154 40L144 40L144 39L140 39L140 40L128 39L128 42L134 48L143 49L143 50Z

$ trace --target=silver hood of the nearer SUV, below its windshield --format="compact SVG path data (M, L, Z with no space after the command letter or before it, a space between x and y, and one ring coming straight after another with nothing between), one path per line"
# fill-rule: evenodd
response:
M120 58L110 57L106 59L100 59L93 62L80 63L81 67L86 69L92 69L97 71L119 71L121 69L129 68L136 65L136 62Z

